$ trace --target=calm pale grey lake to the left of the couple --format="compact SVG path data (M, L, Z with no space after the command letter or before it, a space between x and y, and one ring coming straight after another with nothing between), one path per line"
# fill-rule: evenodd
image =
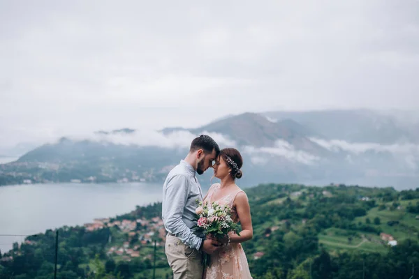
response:
M51 183L0 187L0 235L38 234L64 225L91 223L161 202L163 183ZM24 236L0 236L7 252Z

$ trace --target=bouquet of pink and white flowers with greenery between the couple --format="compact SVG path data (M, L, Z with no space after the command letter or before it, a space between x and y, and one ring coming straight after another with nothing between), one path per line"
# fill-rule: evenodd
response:
M211 235L212 237L223 241L230 238L229 232L234 232L240 236L239 226L233 222L231 218L230 206L220 205L213 202L210 206L206 202L196 201L198 207L196 208L196 222L197 225L193 226L196 232L204 234L205 236ZM203 266L211 266L210 255L205 254L203 257Z

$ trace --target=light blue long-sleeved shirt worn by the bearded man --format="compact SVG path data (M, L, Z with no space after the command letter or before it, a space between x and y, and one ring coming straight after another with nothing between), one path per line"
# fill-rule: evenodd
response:
M194 221L196 199L203 194L196 171L185 160L174 167L163 184L162 219L166 230L190 248L199 249L205 236L196 235L191 227Z

